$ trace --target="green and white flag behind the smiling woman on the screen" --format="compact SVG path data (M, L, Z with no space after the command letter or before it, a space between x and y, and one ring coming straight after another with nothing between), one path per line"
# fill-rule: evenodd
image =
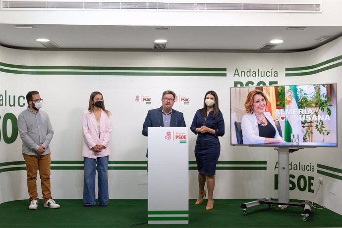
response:
M302 123L298 115L297 86L285 86L285 130L284 140L291 141L291 134L299 134L299 141L303 141Z

